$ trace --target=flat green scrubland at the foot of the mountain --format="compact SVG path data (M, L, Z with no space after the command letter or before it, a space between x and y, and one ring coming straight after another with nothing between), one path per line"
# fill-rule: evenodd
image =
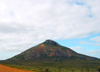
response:
M2 61L1 64L37 72L98 72L99 60L64 60L64 61Z

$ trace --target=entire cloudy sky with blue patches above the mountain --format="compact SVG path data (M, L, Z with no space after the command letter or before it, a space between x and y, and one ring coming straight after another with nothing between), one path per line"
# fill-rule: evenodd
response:
M100 58L100 0L0 0L0 60L46 39Z

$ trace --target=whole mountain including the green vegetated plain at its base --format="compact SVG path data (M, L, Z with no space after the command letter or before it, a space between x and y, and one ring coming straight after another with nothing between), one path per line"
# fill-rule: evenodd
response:
M46 40L37 46L0 64L36 72L97 72L100 59L79 54L53 40Z

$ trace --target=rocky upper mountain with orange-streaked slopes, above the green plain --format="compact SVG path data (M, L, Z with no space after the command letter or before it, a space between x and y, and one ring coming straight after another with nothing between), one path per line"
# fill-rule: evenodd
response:
M70 58L75 59L95 59L93 57L78 54L68 47L61 46L55 41L46 40L45 42L32 47L19 55L11 58L11 60L35 60L37 58L47 59L47 58Z

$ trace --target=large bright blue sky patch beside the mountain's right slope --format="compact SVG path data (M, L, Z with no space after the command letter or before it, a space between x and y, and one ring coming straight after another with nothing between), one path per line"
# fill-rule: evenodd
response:
M65 40L56 40L56 41L59 44L65 47L69 47L78 53L100 58L100 54L99 54L100 42L95 42L95 40L91 40L92 38L97 36L100 36L100 34L92 35L86 38L65 39Z

